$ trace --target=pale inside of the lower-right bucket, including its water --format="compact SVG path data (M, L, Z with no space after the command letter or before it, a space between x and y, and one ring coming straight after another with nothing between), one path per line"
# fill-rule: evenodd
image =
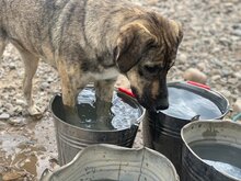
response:
M210 170L214 167L229 178L241 180L240 129L241 125L231 122L196 122L182 129L182 138L191 152Z

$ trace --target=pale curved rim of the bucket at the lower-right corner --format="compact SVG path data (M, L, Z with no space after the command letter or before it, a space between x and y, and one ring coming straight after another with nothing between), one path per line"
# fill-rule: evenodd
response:
M184 144L184 146L188 149L188 151L191 151L191 154L196 158L198 159L202 163L204 163L205 166L208 166L208 167L213 167L208 163L206 163L191 147L190 145L187 144L187 142L185 140L184 138L184 131L186 128L188 128L190 126L192 125L195 125L195 124L200 124L200 123L205 123L205 124L221 124L221 123L225 123L225 124L233 124L233 125L238 125L241 127L241 125L239 123L236 123L236 122L231 122L231 121L228 121L228 120L208 120L208 121L196 121L196 122L191 122L191 123L187 123L185 126L182 127L181 129L181 138L182 138L182 143ZM182 152L183 154L183 152ZM233 181L240 181L240 179L238 178L234 178L232 177L231 174L228 174L226 172L222 172L222 171L219 171L217 170L215 167L213 167L216 171L218 171L219 173L223 174L225 177L229 178L229 179L233 179Z

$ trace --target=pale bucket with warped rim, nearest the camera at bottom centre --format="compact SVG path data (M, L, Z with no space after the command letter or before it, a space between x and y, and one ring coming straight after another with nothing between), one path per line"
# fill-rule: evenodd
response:
M56 171L45 171L41 181L67 180L179 181L179 176L172 162L154 150L99 144Z

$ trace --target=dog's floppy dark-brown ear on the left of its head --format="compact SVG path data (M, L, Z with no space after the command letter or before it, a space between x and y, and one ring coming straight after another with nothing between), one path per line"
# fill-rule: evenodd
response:
M120 72L131 69L154 43L156 37L142 24L133 23L124 26L114 48L115 63Z

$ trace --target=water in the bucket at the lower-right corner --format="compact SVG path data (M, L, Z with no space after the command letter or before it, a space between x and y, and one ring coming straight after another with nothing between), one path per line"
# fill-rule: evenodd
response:
M241 149L222 144L190 144L191 148L207 165L220 172L241 179Z

